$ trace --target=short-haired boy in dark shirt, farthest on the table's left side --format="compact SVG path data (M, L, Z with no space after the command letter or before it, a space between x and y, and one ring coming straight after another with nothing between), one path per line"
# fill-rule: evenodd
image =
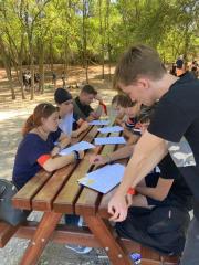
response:
M94 110L90 105L93 100L98 100L98 107ZM74 102L74 114L77 115L80 118L91 121L93 119L98 119L102 115L102 112L107 114L106 106L103 103L101 96L97 94L97 91L91 85L85 85L80 96L77 96Z

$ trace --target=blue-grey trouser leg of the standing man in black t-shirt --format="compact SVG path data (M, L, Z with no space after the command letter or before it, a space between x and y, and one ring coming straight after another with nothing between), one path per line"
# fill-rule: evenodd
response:
M180 265L199 265L199 221L196 218L188 229Z

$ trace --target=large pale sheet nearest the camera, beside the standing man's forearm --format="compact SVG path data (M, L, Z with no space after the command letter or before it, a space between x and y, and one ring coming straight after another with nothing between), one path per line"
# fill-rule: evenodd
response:
M107 193L117 186L124 176L125 167L121 163L107 165L78 180L78 183L102 193Z

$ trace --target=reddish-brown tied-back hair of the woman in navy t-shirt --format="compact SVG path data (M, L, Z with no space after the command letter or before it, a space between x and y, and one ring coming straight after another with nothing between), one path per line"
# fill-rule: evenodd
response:
M29 116L27 119L23 128L22 128L22 135L25 136L30 130L39 127L41 125L41 118L48 118L53 113L57 112L56 107L54 107L50 103L41 103L35 108L33 114Z

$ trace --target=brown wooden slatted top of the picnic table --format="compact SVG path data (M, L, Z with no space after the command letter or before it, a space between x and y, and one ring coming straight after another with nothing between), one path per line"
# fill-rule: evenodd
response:
M73 144L80 140L93 142L95 137L102 136L118 136L118 132L102 135L97 131L97 127L93 126L77 139L74 139ZM98 205L101 205L101 212L103 212L109 193L103 197L100 192L81 187L77 180L95 169L90 163L91 155L107 155L113 152L115 148L115 145L107 145L87 150L82 161L56 170L53 174L40 171L13 198L14 206L85 215L95 214Z

